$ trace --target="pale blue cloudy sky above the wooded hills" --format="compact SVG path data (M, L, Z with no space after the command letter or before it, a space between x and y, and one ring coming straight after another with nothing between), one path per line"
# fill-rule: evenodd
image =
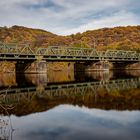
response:
M140 0L0 0L0 26L12 25L60 35L140 25Z

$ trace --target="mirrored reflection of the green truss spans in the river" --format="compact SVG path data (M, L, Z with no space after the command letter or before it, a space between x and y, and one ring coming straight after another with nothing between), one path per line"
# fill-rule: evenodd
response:
M46 85L44 87L8 88L0 90L1 103L10 104L22 99L31 101L34 96L71 97L85 96L87 93L97 95L100 91L113 93L114 91L136 89L140 87L140 78L110 80L108 82L83 82L60 85Z

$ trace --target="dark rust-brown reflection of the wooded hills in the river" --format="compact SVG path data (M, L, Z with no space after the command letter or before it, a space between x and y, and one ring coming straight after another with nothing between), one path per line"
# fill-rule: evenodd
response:
M118 87L114 87L114 89L110 87L110 90L107 88L107 84L110 85L110 83L103 84L96 91L89 90L90 88L85 86L84 92L82 92L82 87L80 90L78 90L78 87L73 87L73 89L69 87L62 90L44 90L37 87L37 91L7 94L4 99L1 98L1 103L4 106L13 105L14 108L9 110L9 113L16 115L46 111L61 104L72 104L105 110L139 110L140 89L137 87L139 87L140 82L134 84L135 81L133 78L129 80L129 83L127 79L123 80L123 82L128 85L133 84L133 89L124 90L123 88L121 90L121 87L118 89L120 86L119 83Z

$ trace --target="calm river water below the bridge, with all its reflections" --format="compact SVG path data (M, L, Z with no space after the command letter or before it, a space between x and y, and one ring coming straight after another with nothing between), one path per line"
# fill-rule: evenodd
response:
M2 140L139 140L140 71L0 75Z

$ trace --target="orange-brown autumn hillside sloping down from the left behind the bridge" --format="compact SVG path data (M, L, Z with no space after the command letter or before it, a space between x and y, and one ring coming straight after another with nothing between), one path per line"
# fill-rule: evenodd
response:
M34 47L47 47L64 45L67 42L66 38L41 29L22 26L0 27L0 41L7 43L30 43Z

